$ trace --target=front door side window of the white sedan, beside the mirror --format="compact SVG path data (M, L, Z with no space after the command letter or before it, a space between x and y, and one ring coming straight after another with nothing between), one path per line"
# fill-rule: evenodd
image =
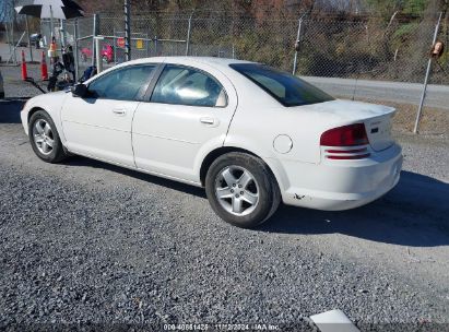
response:
M95 98L138 100L155 69L155 64L142 64L115 70L88 84L88 92Z

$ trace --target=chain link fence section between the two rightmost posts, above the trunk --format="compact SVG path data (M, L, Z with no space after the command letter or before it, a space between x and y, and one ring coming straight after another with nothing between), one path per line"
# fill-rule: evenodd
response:
M425 24L407 32L409 43L401 40L401 28L382 29L370 22L306 20L300 35L298 73L421 82L435 25Z

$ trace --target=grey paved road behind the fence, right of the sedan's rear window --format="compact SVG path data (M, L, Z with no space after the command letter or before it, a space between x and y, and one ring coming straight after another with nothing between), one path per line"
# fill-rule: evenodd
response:
M423 84L304 76L331 95L420 105ZM449 85L428 85L426 106L449 110Z

